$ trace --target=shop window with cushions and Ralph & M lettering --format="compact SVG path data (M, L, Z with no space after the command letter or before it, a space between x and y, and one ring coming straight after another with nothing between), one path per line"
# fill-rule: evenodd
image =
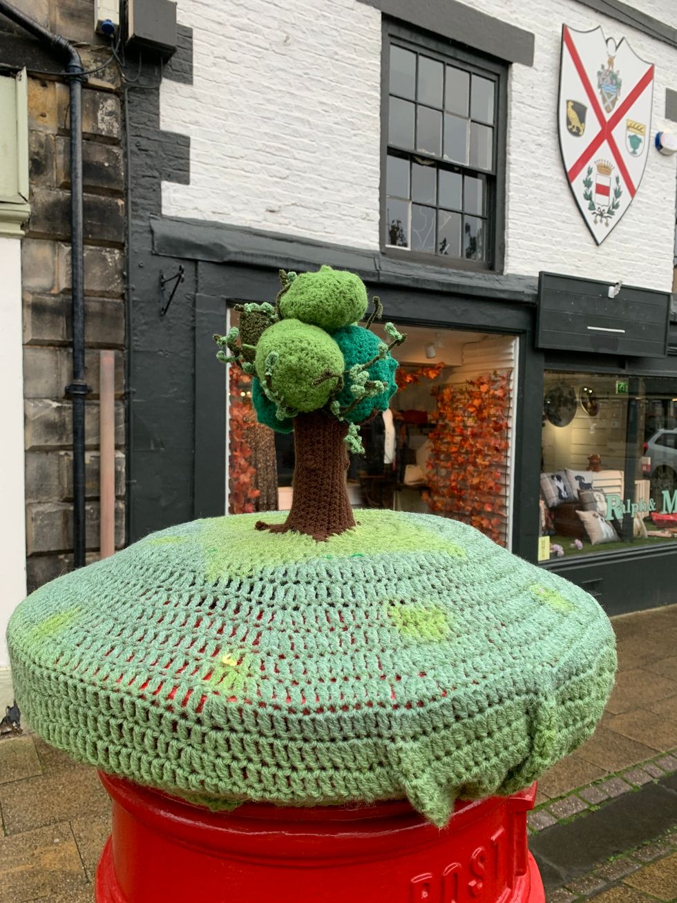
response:
M547 372L539 559L677 538L677 381Z

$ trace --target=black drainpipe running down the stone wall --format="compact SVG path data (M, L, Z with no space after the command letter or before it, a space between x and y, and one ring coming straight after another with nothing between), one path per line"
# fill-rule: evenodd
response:
M73 323L73 378L66 395L73 402L73 549L75 567L85 563L85 260L82 215L82 61L75 47L0 0L0 13L66 60L70 87L70 253Z

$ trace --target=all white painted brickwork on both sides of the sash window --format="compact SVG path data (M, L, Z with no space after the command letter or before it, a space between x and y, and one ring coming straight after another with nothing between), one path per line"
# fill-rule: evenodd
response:
M675 157L649 149L644 180L605 243L589 235L557 140L561 25L626 37L656 64L652 143L677 88L677 51L574 0L472 0L531 31L533 67L511 67L507 273L540 270L669 289ZM674 25L672 0L635 8ZM165 182L169 216L321 241L379 245L381 16L357 0L179 0L194 84L162 84L162 127L190 135L190 185Z

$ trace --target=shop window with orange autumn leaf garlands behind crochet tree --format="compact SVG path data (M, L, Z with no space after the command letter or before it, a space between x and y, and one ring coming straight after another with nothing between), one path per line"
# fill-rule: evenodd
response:
M401 358L398 391L387 410L362 425L365 454L350 455L350 502L453 517L508 546L516 341L403 331L408 339L393 352ZM250 377L228 371L228 512L286 510L293 433L258 424Z

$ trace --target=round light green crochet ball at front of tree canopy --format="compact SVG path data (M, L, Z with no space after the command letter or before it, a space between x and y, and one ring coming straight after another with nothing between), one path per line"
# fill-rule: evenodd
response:
M296 413L317 411L327 404L344 363L327 332L299 320L281 320L259 339L255 368L265 394Z

